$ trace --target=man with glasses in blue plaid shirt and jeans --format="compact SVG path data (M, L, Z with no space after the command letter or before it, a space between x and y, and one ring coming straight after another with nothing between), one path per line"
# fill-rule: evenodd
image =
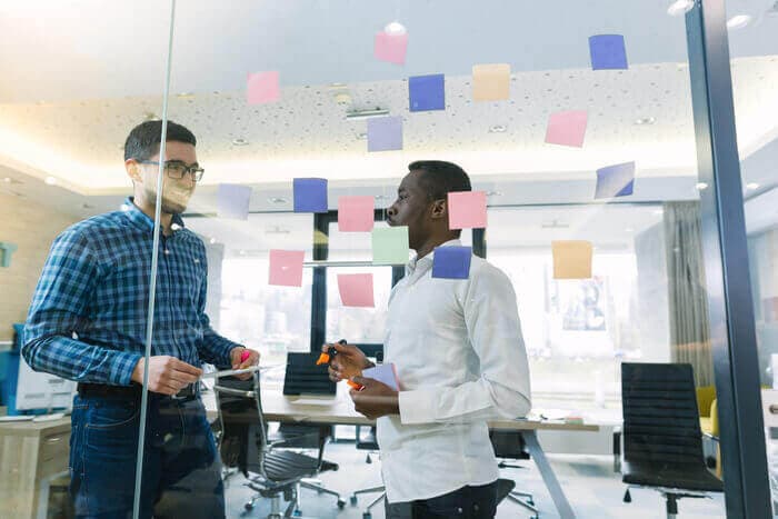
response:
M143 373L150 391L141 516L223 517L216 445L199 396L202 362L246 368L259 353L216 333L205 313L206 248L180 213L203 170L194 136L161 121L124 144L134 197L76 223L53 242L30 307L22 355L32 369L76 380L70 491L79 517L132 512ZM164 181L157 189L159 161ZM151 357L144 361L153 216L161 192ZM179 499L181 498L181 499Z

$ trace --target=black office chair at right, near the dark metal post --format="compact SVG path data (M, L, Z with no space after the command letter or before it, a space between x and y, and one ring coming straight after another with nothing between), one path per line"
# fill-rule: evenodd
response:
M622 362L621 407L625 502L630 488L654 488L674 519L678 499L724 491L705 462L690 365Z

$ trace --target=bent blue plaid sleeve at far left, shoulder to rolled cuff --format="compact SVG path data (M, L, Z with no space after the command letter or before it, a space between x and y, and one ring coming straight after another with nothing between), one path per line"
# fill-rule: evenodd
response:
M24 327L24 360L79 382L128 386L138 353L88 345L73 338L100 282L100 269L87 239L66 231L51 246Z

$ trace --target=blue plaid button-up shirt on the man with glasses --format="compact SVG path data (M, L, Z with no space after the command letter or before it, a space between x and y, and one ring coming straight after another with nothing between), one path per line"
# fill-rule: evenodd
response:
M22 355L37 371L80 382L128 386L146 351L153 220L127 211L81 221L51 246L24 328ZM239 345L217 335L206 308L202 240L179 216L160 237L151 355L230 367Z

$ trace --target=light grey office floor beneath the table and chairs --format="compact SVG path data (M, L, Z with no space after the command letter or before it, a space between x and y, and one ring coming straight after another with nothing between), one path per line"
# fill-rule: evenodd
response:
M373 457L373 463L365 462L365 452L355 449L353 443L331 443L327 446L328 459L337 461L340 470L327 472L321 479L329 488L342 492L347 505L338 510L335 498L327 495L317 496L312 490L302 490L302 517L316 519L361 519L361 507L367 506L375 495L361 496L359 505L352 507L348 500L353 489L380 485L379 461ZM549 460L567 493L578 518L597 519L630 519L665 517L665 505L658 492L651 490L632 490L632 502L621 501L625 487L620 475L612 471L612 458L608 456L570 456L549 455ZM559 517L553 508L551 497L546 491L540 475L531 461L522 461L525 469L505 469L502 477L511 478L517 488L535 495L536 505L540 508L541 518ZM227 481L227 517L228 518L263 518L269 511L269 502L257 501L255 509L246 512L243 503L252 493L245 487L240 475L232 476ZM283 503L282 503L283 505ZM383 519L383 507L373 508L373 519ZM724 518L724 497L714 499L681 499L679 517L684 519ZM497 509L497 517L528 518L531 517L521 507L503 501Z

